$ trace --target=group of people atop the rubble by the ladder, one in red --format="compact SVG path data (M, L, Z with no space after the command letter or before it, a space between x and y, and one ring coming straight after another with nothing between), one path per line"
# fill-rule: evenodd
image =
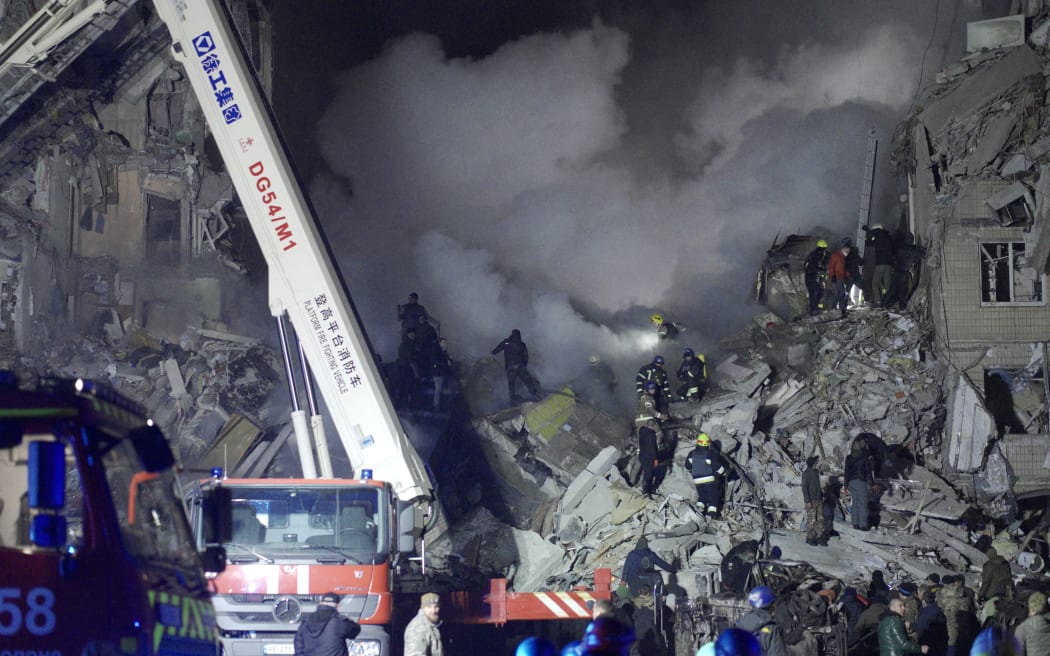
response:
M916 268L922 251L909 233L891 235L881 224L864 227L864 256L850 237L843 237L834 251L826 239L818 239L804 263L805 288L811 315L838 310L846 316L850 302L866 299L875 308L903 309L917 282Z

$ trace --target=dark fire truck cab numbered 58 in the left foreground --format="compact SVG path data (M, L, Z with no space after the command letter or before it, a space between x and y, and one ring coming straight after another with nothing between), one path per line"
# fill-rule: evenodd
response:
M84 380L0 384L4 654L213 656L215 613L161 431ZM227 519L202 499L220 542ZM216 531L217 528L217 531ZM206 550L210 569L222 549Z

